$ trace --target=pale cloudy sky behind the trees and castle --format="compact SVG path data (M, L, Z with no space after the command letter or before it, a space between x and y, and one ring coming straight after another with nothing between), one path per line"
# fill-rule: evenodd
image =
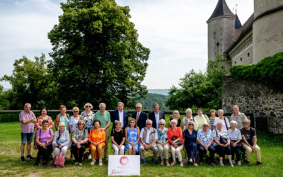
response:
M116 0L129 6L139 42L151 50L142 84L170 89L191 69L207 67L207 23L218 0ZM0 77L11 75L15 59L34 59L52 51L47 33L58 23L65 0L0 1ZM226 0L243 23L253 13L253 0ZM9 89L11 85L0 81Z

